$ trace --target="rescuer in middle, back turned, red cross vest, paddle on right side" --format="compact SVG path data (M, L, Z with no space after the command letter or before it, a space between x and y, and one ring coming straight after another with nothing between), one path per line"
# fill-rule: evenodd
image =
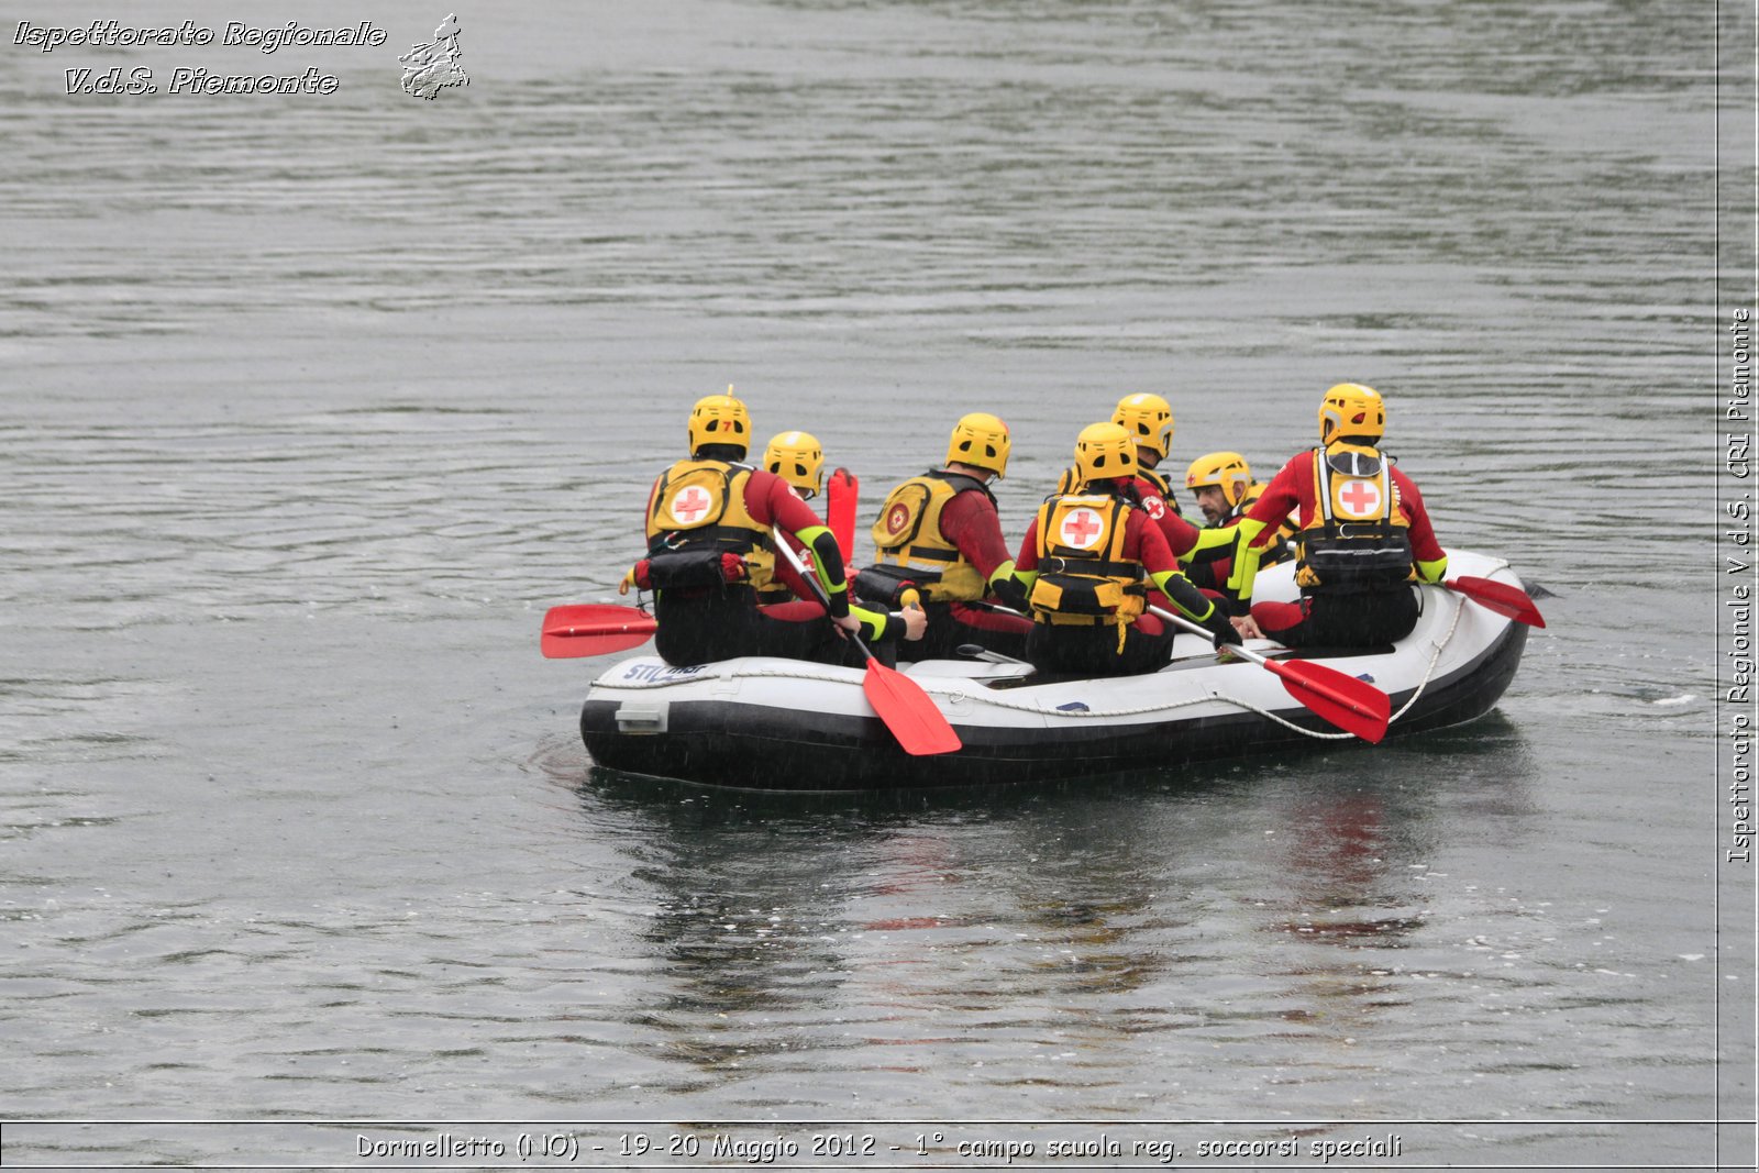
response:
M1052 494L1025 528L1013 577L1033 608L1025 658L1041 672L1138 675L1166 663L1175 630L1145 612L1149 586L1208 628L1215 649L1240 644L1228 608L1179 572L1159 526L1131 503L1136 448L1119 424L1075 441L1080 491Z

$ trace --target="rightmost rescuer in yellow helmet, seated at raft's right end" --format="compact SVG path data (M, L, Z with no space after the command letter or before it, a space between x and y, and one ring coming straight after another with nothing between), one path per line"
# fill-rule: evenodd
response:
M1416 484L1379 450L1386 404L1361 383L1339 383L1319 403L1319 447L1282 466L1235 529L1228 579L1238 608L1277 526L1298 510L1295 582L1300 603L1251 607L1251 635L1284 647L1379 647L1411 635L1421 612L1416 582L1441 582L1448 554Z

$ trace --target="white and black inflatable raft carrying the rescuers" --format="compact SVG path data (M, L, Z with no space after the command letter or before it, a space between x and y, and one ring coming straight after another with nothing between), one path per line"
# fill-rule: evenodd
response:
M957 746L945 753L908 751L911 737L872 693L876 667L769 656L693 667L623 659L593 682L580 735L596 763L633 774L883 790L1166 769L1439 730L1488 712L1514 679L1527 626L1544 624L1506 561L1451 550L1448 563L1458 577L1420 587L1423 614L1397 645L1291 652L1251 640L1242 659L1217 654L1207 633L1180 633L1164 668L1112 679L1047 679L1031 665L978 658L904 665L887 684L911 698L920 689L915 703L929 721L945 718L955 733L946 744ZM1261 572L1256 594L1293 601L1293 566ZM1342 709L1363 693L1381 702L1379 714Z

